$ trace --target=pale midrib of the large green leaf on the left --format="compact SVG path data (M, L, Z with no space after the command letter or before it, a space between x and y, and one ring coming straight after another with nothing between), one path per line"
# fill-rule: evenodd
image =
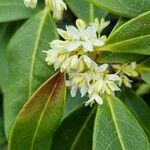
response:
M35 58L36 58L36 54L37 54L37 50L38 50L38 45L39 45L39 41L40 41L40 35L42 33L42 29L44 26L44 21L46 19L46 16L48 14L48 10L47 8L45 8L45 10L43 11L43 16L41 17L41 21L39 24L39 30L38 33L36 35L36 41L35 41L35 45L33 47L33 53L32 53L32 59L31 59L31 67L30 67L30 72L29 72L29 92L28 92L28 98L31 96L32 94L32 82L33 82L33 71L34 71L34 66L35 66Z

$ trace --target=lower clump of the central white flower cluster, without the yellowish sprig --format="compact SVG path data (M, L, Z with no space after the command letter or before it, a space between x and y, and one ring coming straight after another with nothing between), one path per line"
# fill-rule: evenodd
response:
M103 94L113 94L120 91L117 81L120 80L117 74L109 74L108 64L91 65L91 68L84 73L69 73L69 80L66 85L71 87L72 97L76 96L77 90L80 90L81 96L88 94L89 100L85 106L92 106L93 103L103 104Z

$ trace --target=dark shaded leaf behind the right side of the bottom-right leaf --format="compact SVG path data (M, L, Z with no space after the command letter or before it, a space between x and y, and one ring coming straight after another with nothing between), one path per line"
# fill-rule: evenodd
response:
M150 108L129 88L126 88L119 93L119 98L128 107L130 112L139 121L147 135L150 137Z

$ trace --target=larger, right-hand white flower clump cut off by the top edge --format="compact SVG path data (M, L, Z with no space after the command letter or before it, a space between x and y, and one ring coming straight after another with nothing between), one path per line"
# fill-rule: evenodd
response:
M53 18L56 20L61 20L63 16L63 11L67 10L66 4L63 0L46 0L47 5L50 6L50 10L53 12Z

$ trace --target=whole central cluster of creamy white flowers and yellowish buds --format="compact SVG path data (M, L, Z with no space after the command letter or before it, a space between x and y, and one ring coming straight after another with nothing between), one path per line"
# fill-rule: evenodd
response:
M100 36L101 31L109 24L97 19L89 26L78 19L76 26L67 26L66 31L58 29L58 33L64 40L54 40L50 43L51 49L47 53L46 62L54 65L55 70L68 74L66 85L71 87L72 97L80 90L81 96L86 94L89 100L85 105L92 106L93 103L103 104L103 94L114 94L120 91L124 83L130 85L128 76L136 76L134 71L135 63L109 66L108 64L98 65L91 59L94 49L105 44L106 36ZM115 73L110 73L110 67Z

